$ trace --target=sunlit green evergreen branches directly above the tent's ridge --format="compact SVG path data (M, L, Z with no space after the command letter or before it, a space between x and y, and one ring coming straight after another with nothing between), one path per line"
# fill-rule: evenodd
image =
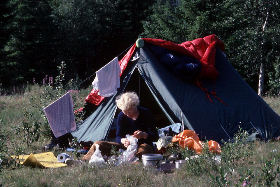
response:
M237 26L230 3L224 0L157 1L153 14L143 22L142 36L182 43L216 34L223 39Z

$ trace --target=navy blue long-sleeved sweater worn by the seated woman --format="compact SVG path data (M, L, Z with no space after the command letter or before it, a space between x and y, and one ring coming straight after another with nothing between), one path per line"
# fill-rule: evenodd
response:
M119 113L117 119L116 141L117 143L122 144L121 139L125 138L125 135L133 135L135 131L140 130L148 133L148 138L138 139L139 145L146 143L150 146L153 146L153 142L158 140L158 134L157 129L155 128L153 115L146 108L137 108L139 110L139 115L135 121L124 115L122 111Z

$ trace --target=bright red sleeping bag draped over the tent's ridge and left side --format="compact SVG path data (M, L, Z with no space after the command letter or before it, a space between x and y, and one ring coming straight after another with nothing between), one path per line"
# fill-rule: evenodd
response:
M225 52L225 45L214 34L206 36L204 38L195 39L193 41L185 41L180 45L162 39L142 39L151 44L197 58L201 64L201 73L198 75L198 78L214 79L219 74L215 68L216 45L223 52ZM135 48L136 44L134 44L126 53L126 55L119 61L121 69L120 76L122 75L123 70L125 70ZM86 97L85 101L88 101L95 105L99 105L104 97L97 95L97 93L98 90L92 89L91 93Z

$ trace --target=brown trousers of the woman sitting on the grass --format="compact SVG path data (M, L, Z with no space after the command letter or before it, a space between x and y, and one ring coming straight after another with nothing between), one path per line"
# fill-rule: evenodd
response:
M114 146L117 150L124 149L126 150L127 148L124 145L120 145L115 142L108 142L108 141L96 141L88 151L88 153L82 158L84 161L89 161L93 153L95 152L95 145L99 145L99 150L101 152L101 155L104 156L111 156L111 150L112 146ZM153 148L148 145L148 144L141 144L138 146L137 152L136 152L136 157L140 158L142 157L143 154L148 154L148 153L153 153Z

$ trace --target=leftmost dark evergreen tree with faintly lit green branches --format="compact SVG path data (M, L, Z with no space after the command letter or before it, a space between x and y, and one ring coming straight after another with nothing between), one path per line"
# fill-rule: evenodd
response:
M44 76L52 64L52 18L48 1L10 1L14 8L13 29L6 46L10 83L17 85Z

